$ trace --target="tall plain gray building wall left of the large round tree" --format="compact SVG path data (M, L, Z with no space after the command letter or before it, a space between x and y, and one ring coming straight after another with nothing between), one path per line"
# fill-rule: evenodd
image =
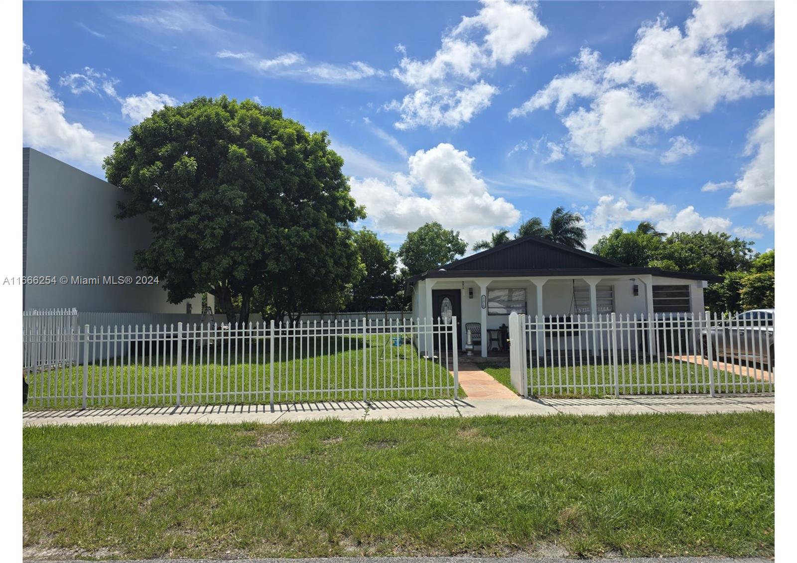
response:
M133 252L151 238L143 217L116 219L127 194L39 151L29 151L25 222L26 276L142 276ZM159 285L26 285L25 309L77 307L78 311L186 313L167 303ZM201 313L201 297L190 300Z

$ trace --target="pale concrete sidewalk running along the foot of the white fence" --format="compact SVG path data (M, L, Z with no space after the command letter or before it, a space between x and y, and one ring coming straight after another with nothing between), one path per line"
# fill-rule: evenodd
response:
M96 409L26 411L22 424L209 424L290 422L296 420L395 420L434 416L545 416L558 413L607 415L661 412L774 412L773 393L707 397L705 395L628 396L619 399L471 399L459 401L375 401L300 403L296 405L206 405L184 407L140 407L137 409Z

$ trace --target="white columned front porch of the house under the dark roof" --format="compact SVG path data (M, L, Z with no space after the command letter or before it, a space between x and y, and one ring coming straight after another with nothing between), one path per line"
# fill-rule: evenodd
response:
M453 272L451 272L453 273ZM462 272L464 275L465 272ZM654 283L656 287L677 287L669 293L658 291L654 307ZM669 285L668 285L669 284ZM660 311L662 303L677 303L683 311L701 311L703 308L702 287L693 280L670 280L650 274L628 276L502 276L502 277L461 277L457 279L428 278L418 282L415 296L415 315L419 318L446 319L457 317L457 340L460 350L469 349L470 330L473 343L473 358L508 362L508 344L500 346L500 340L508 338L508 315L512 312L528 315L532 323L544 330L528 342L528 353L548 356L556 354L561 347L555 338L547 337L548 326L552 333L563 335L571 344L575 338L568 331L577 323L587 319L607 319L611 313L619 315L638 315L652 317ZM676 295L669 297L666 295ZM420 315L418 315L420 313ZM687 314L683 311L679 314ZM592 321L590 321L592 322ZM564 327L564 329L562 328ZM653 338L647 335L647 338ZM553 341L553 342L552 342ZM539 353L538 353L539 350Z

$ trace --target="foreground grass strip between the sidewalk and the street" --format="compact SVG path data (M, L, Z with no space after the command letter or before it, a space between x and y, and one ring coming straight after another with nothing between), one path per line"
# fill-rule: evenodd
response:
M770 412L27 427L23 471L27 557L774 553Z

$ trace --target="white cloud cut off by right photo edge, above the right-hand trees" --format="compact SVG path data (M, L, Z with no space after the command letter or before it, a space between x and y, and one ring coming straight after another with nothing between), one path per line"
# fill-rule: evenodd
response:
M754 154L745 166L744 175L736 180L736 190L728 198L728 206L775 202L775 110L770 110L748 134L745 154Z

